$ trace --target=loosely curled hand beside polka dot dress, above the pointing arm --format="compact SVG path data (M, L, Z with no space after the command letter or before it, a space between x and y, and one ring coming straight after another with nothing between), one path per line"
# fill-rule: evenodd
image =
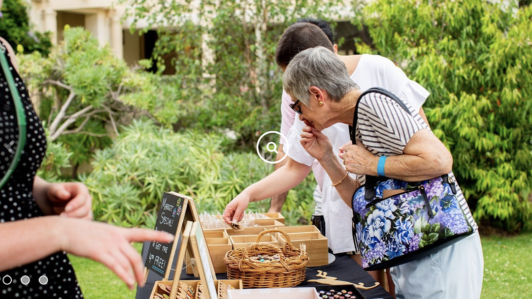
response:
M46 191L56 215L80 219L93 218L93 199L82 183L51 183Z

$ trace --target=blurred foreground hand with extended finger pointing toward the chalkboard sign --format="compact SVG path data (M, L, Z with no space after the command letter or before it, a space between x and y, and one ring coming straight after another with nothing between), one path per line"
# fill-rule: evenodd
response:
M103 263L128 285L144 286L144 264L131 242L169 243L174 236L144 228L123 228L82 219L61 218L61 249Z

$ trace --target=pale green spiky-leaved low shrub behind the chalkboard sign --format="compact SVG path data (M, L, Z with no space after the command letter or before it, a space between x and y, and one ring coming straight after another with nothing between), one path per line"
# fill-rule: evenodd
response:
M174 133L151 121L134 121L113 146L97 151L94 170L82 180L93 194L95 219L153 227L162 193L178 191L197 201L200 211L223 211L245 187L272 172L255 153L223 151L223 136L198 131ZM313 178L291 191L286 215L309 219ZM297 202L295 198L305 198ZM252 203L254 211L267 202Z

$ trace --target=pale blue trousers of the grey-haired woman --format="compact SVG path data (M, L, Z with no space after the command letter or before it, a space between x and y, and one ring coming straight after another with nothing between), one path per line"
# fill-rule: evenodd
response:
M478 232L428 257L390 268L397 299L478 299L483 272Z

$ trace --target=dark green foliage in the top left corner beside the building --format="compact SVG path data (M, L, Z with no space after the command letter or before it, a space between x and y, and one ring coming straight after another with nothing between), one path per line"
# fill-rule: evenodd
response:
M9 41L13 48L21 45L29 53L38 51L48 55L52 47L48 32L32 30L29 24L28 3L24 0L4 0L0 36Z

